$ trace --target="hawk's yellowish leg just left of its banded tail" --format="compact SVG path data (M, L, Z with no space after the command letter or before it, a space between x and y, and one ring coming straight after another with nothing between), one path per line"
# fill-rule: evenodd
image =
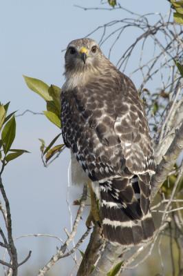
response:
M98 210L98 200L96 199L96 195L92 189L91 181L88 182L90 197L91 197L91 209L89 216L87 217L86 226L87 228L91 227L92 222L95 224L96 222L100 226L100 217L99 217L99 210Z

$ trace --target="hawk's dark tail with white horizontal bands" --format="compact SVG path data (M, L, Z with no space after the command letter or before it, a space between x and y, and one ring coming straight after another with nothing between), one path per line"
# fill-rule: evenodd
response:
M104 237L128 246L150 239L155 228L149 210L149 175L114 178L99 184Z

